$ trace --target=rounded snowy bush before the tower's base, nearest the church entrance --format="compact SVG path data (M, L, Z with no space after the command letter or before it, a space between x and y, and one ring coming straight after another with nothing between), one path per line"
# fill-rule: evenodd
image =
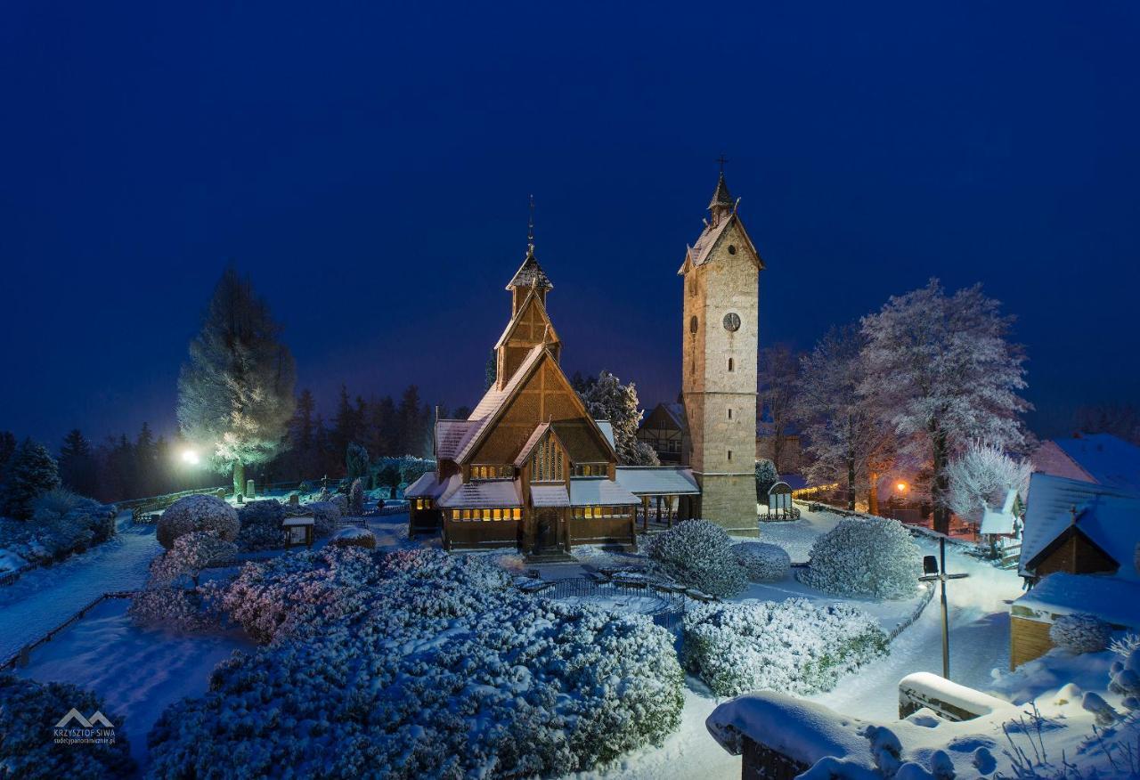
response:
M645 552L668 576L720 598L748 587L748 575L736 561L728 533L708 520L685 520L652 537Z

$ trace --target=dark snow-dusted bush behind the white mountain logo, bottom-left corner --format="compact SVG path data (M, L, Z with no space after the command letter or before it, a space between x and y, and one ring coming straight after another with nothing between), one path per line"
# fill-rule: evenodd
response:
M52 726L72 709L84 717L100 712L113 726L123 725L122 716L82 688L0 674L0 777L132 777L135 762L122 729L111 745L55 742ZM71 726L82 729L75 721Z

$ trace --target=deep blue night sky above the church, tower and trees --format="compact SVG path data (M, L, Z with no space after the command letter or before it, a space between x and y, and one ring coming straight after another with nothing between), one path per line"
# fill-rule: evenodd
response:
M0 429L144 420L223 265L299 383L474 404L527 195L568 371L679 382L728 156L763 343L939 276L1018 316L1044 431L1140 396L1140 5L0 9Z

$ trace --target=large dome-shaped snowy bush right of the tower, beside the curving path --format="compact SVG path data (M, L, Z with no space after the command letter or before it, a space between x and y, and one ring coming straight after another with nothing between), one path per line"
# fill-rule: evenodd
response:
M922 556L897 520L845 518L812 545L800 570L805 585L839 595L904 599L913 595Z

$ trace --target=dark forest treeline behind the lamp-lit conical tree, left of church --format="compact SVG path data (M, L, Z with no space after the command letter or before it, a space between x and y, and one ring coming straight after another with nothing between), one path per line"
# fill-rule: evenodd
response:
M456 409L466 417L469 409ZM440 408L440 416L447 409ZM270 463L251 469L249 478L259 485L340 479L347 473L345 456L350 444L368 450L370 458L392 455L431 457L435 411L421 401L420 390L408 387L399 401L390 396L351 397L342 387L336 409L326 421L312 393L303 390L296 412L285 434L283 453ZM18 440L0 431L0 481ZM190 464L184 453L192 445L180 434L155 436L147 423L133 436L125 433L92 442L79 429L72 430L55 449L63 486L97 501L109 503L128 498L157 496L202 487L225 487L228 478L210 470L203 462ZM203 454L203 457L205 454Z

